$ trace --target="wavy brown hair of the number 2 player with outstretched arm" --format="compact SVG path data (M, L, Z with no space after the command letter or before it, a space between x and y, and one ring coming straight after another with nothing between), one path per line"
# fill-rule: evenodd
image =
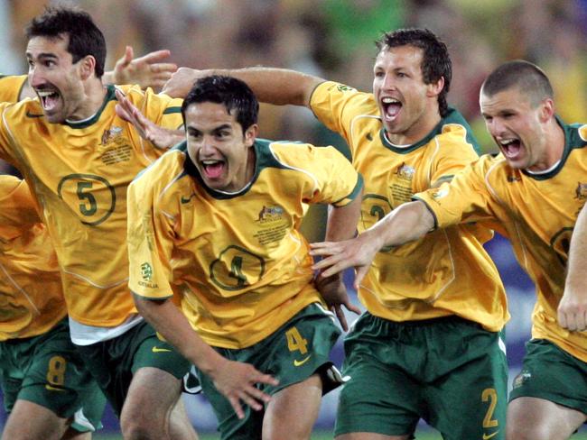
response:
M452 62L449 50L429 29L398 29L384 33L375 42L379 51L400 46L414 46L422 49L422 77L424 84L433 84L440 78L444 78L444 87L438 95L438 110L441 116L448 113L446 95L451 89Z

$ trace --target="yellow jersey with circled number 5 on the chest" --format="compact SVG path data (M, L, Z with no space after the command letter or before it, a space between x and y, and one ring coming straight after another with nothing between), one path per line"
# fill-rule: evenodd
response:
M119 87L155 124L182 125L181 103ZM113 327L136 313L127 288L126 188L160 151L115 112L108 86L98 113L49 124L37 99L0 104L0 156L23 173L60 264L70 318Z

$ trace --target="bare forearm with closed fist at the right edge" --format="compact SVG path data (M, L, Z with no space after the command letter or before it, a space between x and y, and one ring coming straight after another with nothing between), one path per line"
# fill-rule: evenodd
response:
M558 324L568 330L587 330L587 206L583 206L574 225L564 283L564 295L558 305Z

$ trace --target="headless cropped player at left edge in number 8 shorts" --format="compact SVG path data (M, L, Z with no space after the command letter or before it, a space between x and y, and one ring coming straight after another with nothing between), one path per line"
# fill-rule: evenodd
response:
M71 344L51 240L13 176L0 176L0 270L3 438L91 438L106 399Z

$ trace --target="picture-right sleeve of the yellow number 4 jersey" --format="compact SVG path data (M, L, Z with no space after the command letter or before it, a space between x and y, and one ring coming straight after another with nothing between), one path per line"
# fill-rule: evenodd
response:
M274 144L278 160L293 170L299 170L309 185L303 189L308 203L345 206L360 194L363 179L340 151L334 147L311 144Z

